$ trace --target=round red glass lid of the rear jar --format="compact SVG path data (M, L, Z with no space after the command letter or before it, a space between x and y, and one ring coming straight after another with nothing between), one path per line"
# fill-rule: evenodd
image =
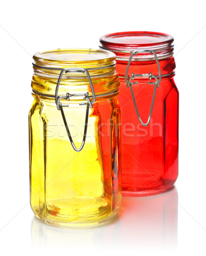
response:
M128 56L136 49L151 49L157 56L172 55L174 38L159 32L130 31L104 35L100 38L99 47L113 51L117 57ZM134 58L150 58L149 53L135 55Z

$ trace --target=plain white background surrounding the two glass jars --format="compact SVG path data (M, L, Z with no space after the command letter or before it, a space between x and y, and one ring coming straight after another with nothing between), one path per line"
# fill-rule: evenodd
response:
M56 255L61 250L75 255L205 255L205 7L203 0L2 1L1 255ZM175 82L180 92L176 188L149 198L123 198L119 219L106 227L61 230L40 224L29 206L32 55L54 48L97 48L101 35L135 30L165 32L175 39Z

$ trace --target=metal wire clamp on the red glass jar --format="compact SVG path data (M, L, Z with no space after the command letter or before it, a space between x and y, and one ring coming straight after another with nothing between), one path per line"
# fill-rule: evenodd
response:
M150 54L151 53L154 54L154 58L155 58L155 61L157 63L157 67L158 67L159 79L158 79L158 76L154 76L154 75L152 75L152 73L149 73L149 74L134 74L134 73L132 73L132 75L128 78L128 70L129 70L129 67L130 67L133 55L136 55L136 54L142 53L142 52L149 52ZM132 84L138 84L138 82L131 82L131 80L134 80L134 77L148 77L149 80L151 80L151 79L155 79L156 80L155 82L149 82L149 81L147 82L148 84L154 84L154 92L153 92L153 97L152 97L152 102L151 102L151 107L150 107L150 112L149 112L148 120L147 120L146 123L142 122L142 119L139 116L139 111L138 111L138 108L137 108L137 105L136 105L136 100L135 100L135 97L134 97ZM129 61L128 61L128 64L127 64L126 72L125 72L125 83L127 84L128 88L130 87L131 94L132 94L132 99L133 99L133 103L134 103L134 107L135 107L135 110L136 110L136 114L137 114L137 116L139 118L139 121L144 126L147 126L149 124L149 122L150 122L151 114L152 114L152 110L153 110L153 106L154 106L154 99L155 99L156 89L160 86L161 79L162 79L162 76L161 76L160 64L159 64L159 61L158 61L158 58L157 58L157 54L156 54L155 51L153 51L153 50L134 50L131 53Z

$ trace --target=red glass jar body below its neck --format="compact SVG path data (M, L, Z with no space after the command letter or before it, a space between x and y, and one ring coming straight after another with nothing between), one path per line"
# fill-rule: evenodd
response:
M133 85L143 121L148 118L154 85ZM137 118L125 81L120 80L122 108L122 191L126 195L157 194L170 189L178 176L178 102L173 78L157 88L148 126Z

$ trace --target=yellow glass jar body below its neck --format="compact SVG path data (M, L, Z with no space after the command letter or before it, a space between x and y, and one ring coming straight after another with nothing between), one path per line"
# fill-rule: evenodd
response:
M65 108L77 147L85 107ZM103 125L107 124L108 127ZM31 207L41 220L58 225L99 224L121 205L120 126L117 99L90 109L87 138L73 150L61 112L37 97L29 112ZM79 131L78 129L81 129Z

